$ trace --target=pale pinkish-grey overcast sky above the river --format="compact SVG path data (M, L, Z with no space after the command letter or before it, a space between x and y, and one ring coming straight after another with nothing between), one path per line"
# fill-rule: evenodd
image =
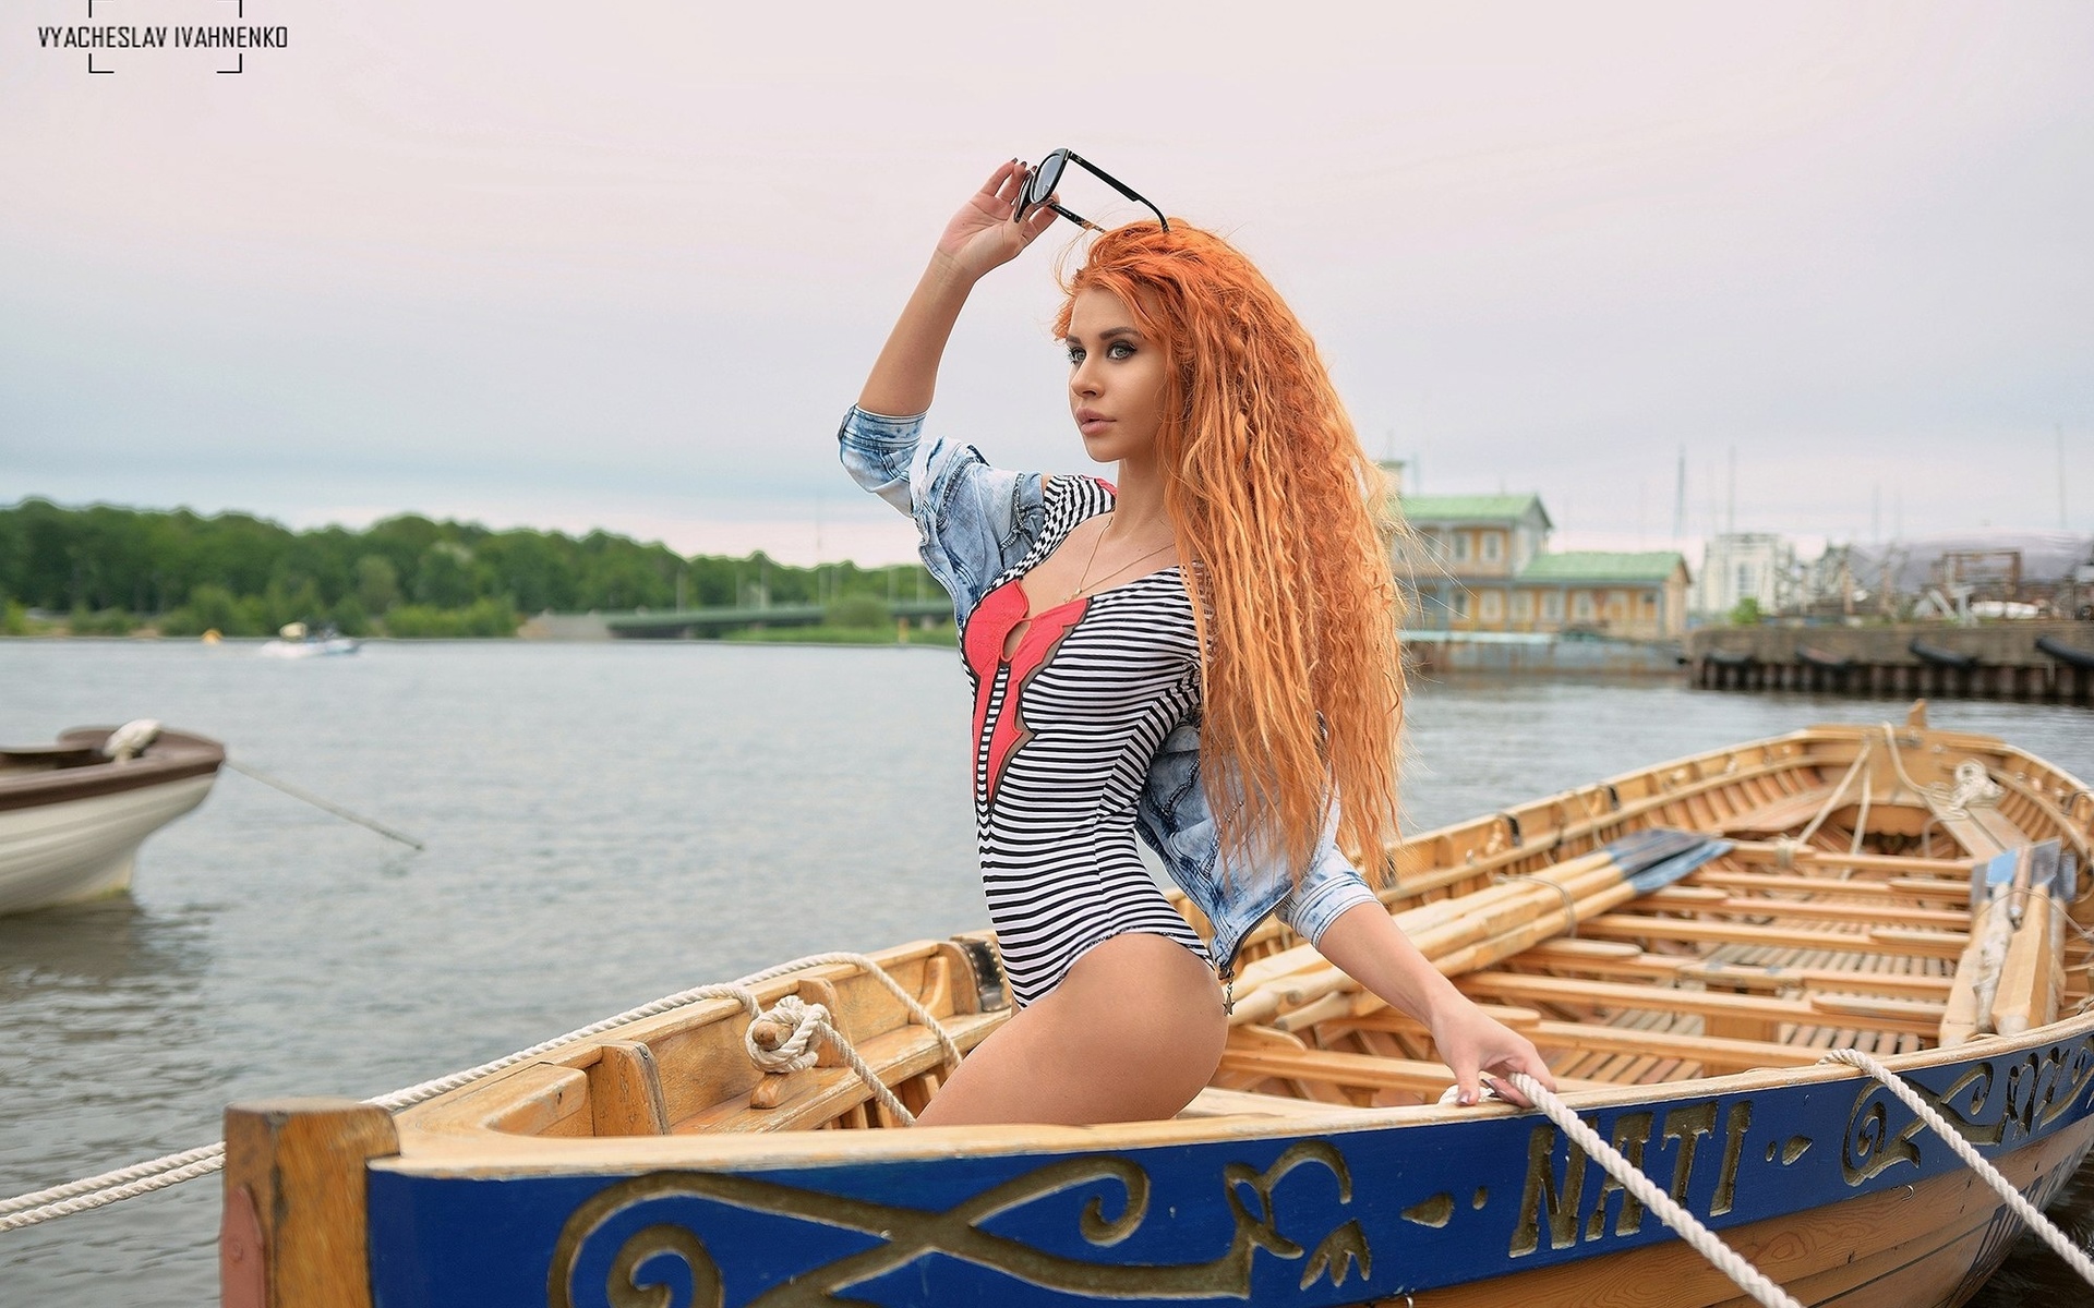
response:
M243 2L289 44L239 75L0 2L0 502L905 559L836 423L951 211L1066 144L1558 544L1665 546L1681 450L1696 538L1732 450L1738 529L2058 527L2058 431L2094 532L2094 4ZM946 358L997 463L1085 467L1072 234Z

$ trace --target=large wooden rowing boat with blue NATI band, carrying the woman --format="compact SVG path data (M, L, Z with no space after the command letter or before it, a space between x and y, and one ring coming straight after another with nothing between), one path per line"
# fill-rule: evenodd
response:
M1874 1055L2048 1201L2094 1143L2090 825L2084 783L1998 739L1818 726L1416 835L1386 902L1797 1300L1950 1306L2017 1220L1820 1059ZM1654 829L1721 843L1646 889L1614 864ZM775 1007L819 1002L919 1109L946 1055L882 977L972 1048L1009 1015L986 935L693 998L396 1115L235 1105L226 1302L1748 1302L1545 1118L1441 1105L1428 1034L1284 927L1246 956L1171 1122L894 1130L833 1044L752 1063Z

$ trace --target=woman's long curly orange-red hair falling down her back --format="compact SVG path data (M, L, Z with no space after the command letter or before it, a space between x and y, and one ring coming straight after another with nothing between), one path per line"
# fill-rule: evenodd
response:
M1223 866L1284 858L1300 877L1338 804L1369 877L1397 839L1403 599L1395 517L1315 341L1250 260L1173 220L1099 234L1074 297L1112 291L1162 345L1164 509L1202 645L1200 764Z

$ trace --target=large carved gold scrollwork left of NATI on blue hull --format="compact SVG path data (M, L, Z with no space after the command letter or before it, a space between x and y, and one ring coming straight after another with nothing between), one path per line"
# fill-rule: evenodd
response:
M1338 1180L1338 1203L1351 1203L1353 1182L1344 1157L1328 1141L1298 1141L1269 1168L1229 1164L1223 1170L1223 1195L1235 1218L1227 1251L1198 1264L1110 1264L1085 1262L1037 1249L1024 1241L982 1231L982 1222L1026 1203L1083 1185L1106 1182L1120 1191L1116 1216L1106 1216L1106 1195L1093 1195L1078 1216L1083 1239L1099 1249L1131 1237L1150 1214L1150 1178L1133 1162L1120 1157L1074 1157L1047 1164L1024 1176L990 1187L946 1212L871 1203L842 1195L794 1189L752 1176L716 1172L658 1172L607 1187L582 1203L559 1233L553 1266L547 1279L551 1308L576 1308L576 1272L591 1239L614 1218L641 1205L672 1199L710 1199L760 1214L800 1218L825 1228L846 1228L877 1237L879 1245L836 1258L792 1277L752 1300L764 1308L848 1304L840 1298L852 1285L882 1277L926 1254L944 1254L963 1262L995 1268L1028 1285L1087 1295L1145 1298L1248 1298L1252 1256L1265 1249L1277 1258L1305 1258L1300 1243L1277 1228L1273 1191L1288 1172L1300 1166L1321 1166ZM672 1308L668 1283L643 1281L645 1264L672 1256L689 1268L691 1308L718 1308L725 1302L720 1268L704 1239L681 1224L655 1222L628 1235L611 1258L603 1287L607 1308ZM1367 1235L1359 1222L1330 1231L1302 1270L1302 1289L1330 1275L1342 1285L1359 1262L1361 1279L1372 1275Z

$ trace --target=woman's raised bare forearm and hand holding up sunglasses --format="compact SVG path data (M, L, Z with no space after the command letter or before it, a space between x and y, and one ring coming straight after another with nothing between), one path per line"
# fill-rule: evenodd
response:
M1018 257L1055 220L1055 211L1041 205L1022 224L1011 222L1024 182L1026 165L1011 159L944 226L923 280L859 391L859 408L894 419L930 408L932 391L938 389L938 360L944 358L944 343L974 283Z

